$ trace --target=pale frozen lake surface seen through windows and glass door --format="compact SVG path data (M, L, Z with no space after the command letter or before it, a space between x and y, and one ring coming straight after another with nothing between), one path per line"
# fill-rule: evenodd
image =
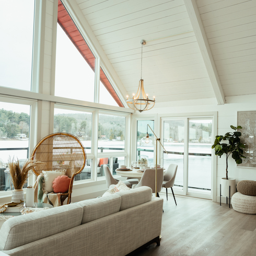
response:
M91 147L90 141L82 141L85 147ZM27 148L29 146L28 139L17 141L0 141L1 148ZM165 143L167 151L183 152L183 143ZM99 141L98 147L111 147L111 148L124 148L122 141ZM150 146L139 146L141 149L154 149ZM100 149L98 150L100 152ZM113 152L115 150L103 149L103 152ZM90 149L86 149L90 153ZM194 143L190 144L190 153L211 154L212 149L210 144ZM153 152L141 152L141 156L147 156L148 162L151 166L153 163ZM0 161L7 162L8 159L26 159L27 150L1 150ZM119 157L119 165L124 163L124 157ZM176 175L175 184L183 185L183 155L177 154L164 154L164 168L168 168L170 164L177 164L178 171ZM189 156L189 187L211 189L211 156Z

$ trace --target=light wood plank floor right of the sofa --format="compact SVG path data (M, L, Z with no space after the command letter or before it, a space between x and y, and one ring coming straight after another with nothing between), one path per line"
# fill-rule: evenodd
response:
M256 215L234 211L226 203L160 195L164 198L161 245L138 256L256 255Z

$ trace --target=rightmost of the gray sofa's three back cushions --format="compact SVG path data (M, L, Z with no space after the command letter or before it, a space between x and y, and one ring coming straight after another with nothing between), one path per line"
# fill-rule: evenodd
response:
M131 190L125 190L115 193L122 197L120 211L134 207L139 204L144 204L152 200L152 189L149 187L139 187Z

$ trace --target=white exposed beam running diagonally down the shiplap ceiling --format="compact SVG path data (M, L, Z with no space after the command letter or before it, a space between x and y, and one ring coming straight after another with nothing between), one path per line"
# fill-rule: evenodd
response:
M195 0L184 0L184 3L189 14L197 43L199 44L199 48L203 56L205 67L213 86L215 97L219 105L224 104L225 95L223 92L222 84L220 83L218 77L217 69L213 60L212 52L204 31L204 26L196 2Z

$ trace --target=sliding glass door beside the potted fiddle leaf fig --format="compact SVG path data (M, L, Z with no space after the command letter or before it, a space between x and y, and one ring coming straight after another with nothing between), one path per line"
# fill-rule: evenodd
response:
M212 190L212 122L210 118L162 119L164 168L177 164L174 188L185 195L210 198Z

